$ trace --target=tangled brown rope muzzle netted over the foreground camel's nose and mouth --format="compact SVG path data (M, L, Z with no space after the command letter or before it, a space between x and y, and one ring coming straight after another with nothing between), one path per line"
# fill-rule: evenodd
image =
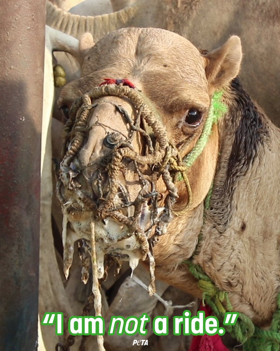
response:
M122 107L114 105L125 118L129 125L130 133L126 140L116 142L111 159L104 159L99 162L99 177L97 179L97 183L100 183L98 186L99 194L98 199L93 200L89 196L88 191L85 192L76 179L77 174L81 170L73 170L71 163L83 146L85 134L89 132L88 119L92 109L98 104L108 102L105 100L94 102L94 100L108 95L127 98L134 107L136 117L132 119ZM135 151L133 148L133 140L137 133L145 140L145 150L142 150L143 154L140 154L139 151ZM166 232L167 224L173 218L173 206L178 196L177 188L174 184L177 173L183 174L189 192L189 199L191 198L186 168L182 165L178 150L168 140L160 115L143 94L129 86L110 84L96 87L89 93L84 94L72 105L70 118L65 125L63 154L64 157L61 162L57 183L57 197L61 206L64 208L69 206L68 204L65 205L65 199L61 191L64 186L69 191L75 192L85 208L92 211L94 216L99 218L112 217L126 224L130 229L129 236L136 236L143 255L149 258L151 276L149 293L152 295L155 291L155 263L152 247L158 240L158 236ZM133 161L134 173L138 175L139 183L141 184L141 190L134 201L130 201L129 194L118 180L120 172L126 167L127 160ZM172 170L174 172L170 173ZM162 200L162 194L156 188L159 178L162 178L167 189L167 194ZM123 201L121 204L116 204L114 199L119 192L122 193ZM139 226L138 219L142 206L148 202L151 206L151 225L148 229L143 230ZM164 210L159 215L160 202L163 202ZM133 216L125 216L121 210L131 206L134 207ZM120 240L123 239L125 237L122 237Z

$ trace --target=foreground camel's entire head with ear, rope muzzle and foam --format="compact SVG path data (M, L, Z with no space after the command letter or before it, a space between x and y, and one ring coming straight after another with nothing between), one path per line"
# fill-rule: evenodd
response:
M58 101L68 118L57 184L66 276L77 239L85 281L85 248L96 252L98 278L105 255L130 261L132 270L148 259L150 293L155 263L172 256L180 236L191 256L197 234L186 228L211 187L219 152L213 101L240 61L238 37L201 54L154 28L119 29L86 52L81 77Z

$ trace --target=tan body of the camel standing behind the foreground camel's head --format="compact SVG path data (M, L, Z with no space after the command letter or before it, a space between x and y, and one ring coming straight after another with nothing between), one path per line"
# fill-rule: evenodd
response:
M77 39L90 32L94 42L129 26L167 29L208 49L222 45L230 35L239 35L244 53L240 79L279 126L279 10L279 2L273 0L138 0L116 13L91 17L65 13L47 1L46 20L47 25Z

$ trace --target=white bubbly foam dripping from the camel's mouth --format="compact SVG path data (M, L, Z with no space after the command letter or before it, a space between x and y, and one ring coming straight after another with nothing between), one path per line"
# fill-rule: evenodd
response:
M148 206L144 207L145 211L139 216L139 227L143 230L151 224L151 212ZM164 207L158 208L158 216L160 216L163 210ZM104 257L106 254L113 257L119 265L124 261L128 261L133 274L134 269L139 264L139 260L145 260L147 254L143 252L142 245L137 235L135 233L130 233L126 224L119 223L111 217L93 220L91 217L82 215L80 219L77 219L74 214L68 213L65 210L63 213L62 242L64 248L64 274L66 279L69 276L69 269L73 260L74 243L77 240L84 239L87 251L92 255L92 223L94 223L98 279L104 276ZM88 278L84 278L86 275L88 277L85 266L83 266L82 275L83 282L87 283Z

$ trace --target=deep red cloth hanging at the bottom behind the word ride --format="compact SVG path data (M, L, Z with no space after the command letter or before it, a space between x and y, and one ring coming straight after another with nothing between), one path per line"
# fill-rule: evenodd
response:
M199 311L205 312L205 317L212 316L209 306L200 304ZM222 343L221 337L216 335L194 335L191 340L189 351L229 351Z

